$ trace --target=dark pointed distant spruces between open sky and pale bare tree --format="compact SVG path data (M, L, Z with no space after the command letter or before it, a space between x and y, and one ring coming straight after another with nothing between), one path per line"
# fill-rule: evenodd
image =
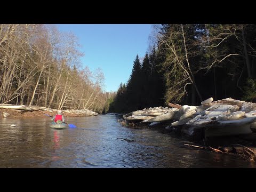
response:
M150 54L145 54L142 63L139 56L136 56L130 78L126 85L120 84L116 97L110 104L110 112L124 113L162 105L164 83L157 61L155 46Z

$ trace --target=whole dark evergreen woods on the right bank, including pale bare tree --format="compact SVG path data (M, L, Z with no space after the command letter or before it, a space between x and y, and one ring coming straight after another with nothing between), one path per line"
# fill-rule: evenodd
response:
M200 105L210 97L256 102L256 25L164 24L154 31L152 49L142 62L135 57L109 111Z

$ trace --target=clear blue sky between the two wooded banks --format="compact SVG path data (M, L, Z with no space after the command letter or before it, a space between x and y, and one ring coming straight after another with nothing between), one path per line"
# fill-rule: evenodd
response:
M131 75L136 55L144 57L149 46L149 24L58 24L60 31L71 31L79 38L83 66L101 68L105 91L117 91Z

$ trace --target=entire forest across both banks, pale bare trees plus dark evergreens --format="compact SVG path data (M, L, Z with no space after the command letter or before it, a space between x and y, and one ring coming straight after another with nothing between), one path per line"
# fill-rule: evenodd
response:
M142 60L135 57L129 80L105 92L102 70L83 67L74 34L1 24L0 103L101 114L195 106L210 97L255 102L255 31L252 24L154 25L152 46Z

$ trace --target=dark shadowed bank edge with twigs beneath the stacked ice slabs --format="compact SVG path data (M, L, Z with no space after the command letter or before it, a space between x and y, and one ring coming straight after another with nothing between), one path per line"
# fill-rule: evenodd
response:
M256 132L247 135L232 135L226 137L202 138L202 133L188 135L181 132L180 127L170 127L170 121L161 122L153 125L139 124L124 119L118 119L123 127L131 129L149 129L165 132L171 137L181 139L177 143L180 147L190 150L205 150L211 153L238 155L245 161L256 161Z

